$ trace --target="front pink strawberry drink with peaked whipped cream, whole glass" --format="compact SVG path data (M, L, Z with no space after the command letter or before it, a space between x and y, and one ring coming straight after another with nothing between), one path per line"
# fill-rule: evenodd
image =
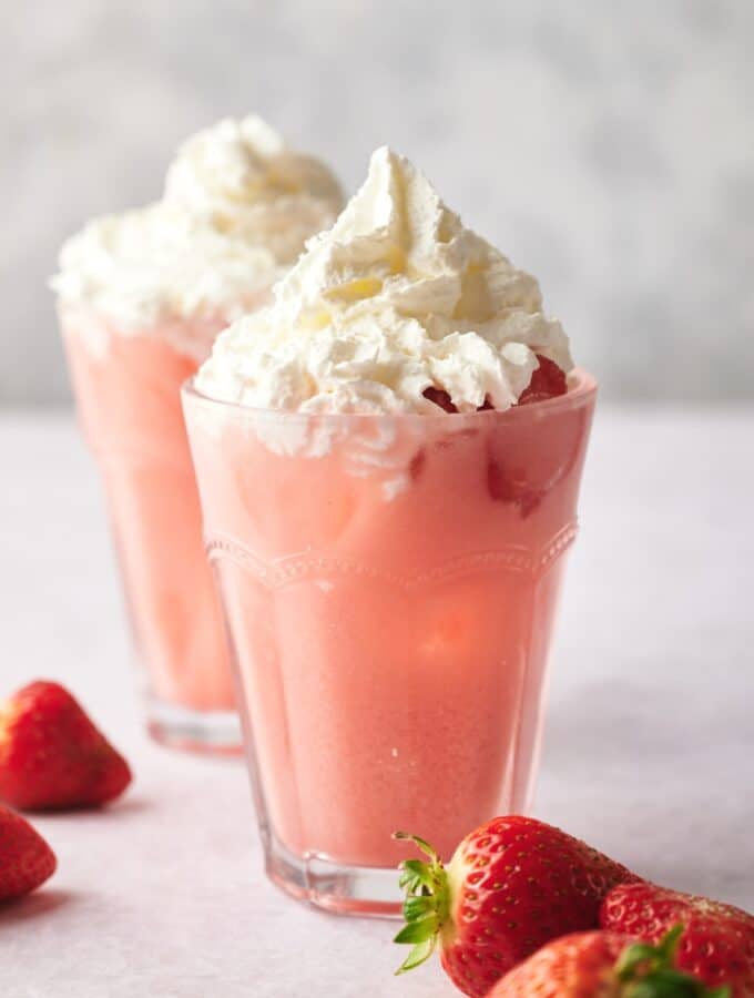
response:
M378 150L273 304L184 389L267 869L397 910L526 811L595 396L537 282Z

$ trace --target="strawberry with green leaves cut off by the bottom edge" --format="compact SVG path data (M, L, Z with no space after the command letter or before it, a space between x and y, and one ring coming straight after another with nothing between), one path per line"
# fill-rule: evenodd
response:
M618 933L577 933L544 946L492 988L488 998L730 998L676 967L683 926L658 946Z

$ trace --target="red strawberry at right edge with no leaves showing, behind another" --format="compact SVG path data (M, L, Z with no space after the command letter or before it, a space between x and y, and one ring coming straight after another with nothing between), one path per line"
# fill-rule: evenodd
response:
M600 912L603 928L650 943L679 923L686 927L679 967L710 987L732 985L735 998L753 998L754 916L741 908L654 884L626 884L610 892Z

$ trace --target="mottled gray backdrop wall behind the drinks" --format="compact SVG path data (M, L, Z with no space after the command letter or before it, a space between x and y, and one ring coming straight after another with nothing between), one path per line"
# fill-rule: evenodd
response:
M2 0L0 403L68 398L45 277L176 143L261 112L414 157L613 397L754 394L752 0Z

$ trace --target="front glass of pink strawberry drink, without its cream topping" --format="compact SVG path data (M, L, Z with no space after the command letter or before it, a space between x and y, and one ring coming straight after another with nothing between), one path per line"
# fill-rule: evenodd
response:
M397 910L396 829L446 858L526 811L597 386L506 413L183 401L267 872Z

